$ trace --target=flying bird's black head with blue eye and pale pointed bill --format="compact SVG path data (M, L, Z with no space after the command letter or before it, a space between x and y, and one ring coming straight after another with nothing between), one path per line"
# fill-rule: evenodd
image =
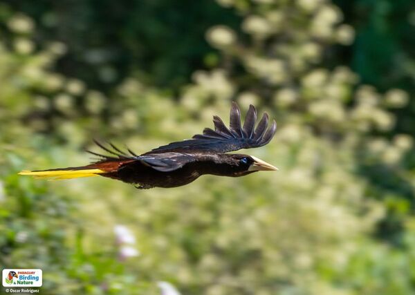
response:
M277 167L257 158L253 155L227 154L226 164L230 176L239 177L257 171L276 171Z

